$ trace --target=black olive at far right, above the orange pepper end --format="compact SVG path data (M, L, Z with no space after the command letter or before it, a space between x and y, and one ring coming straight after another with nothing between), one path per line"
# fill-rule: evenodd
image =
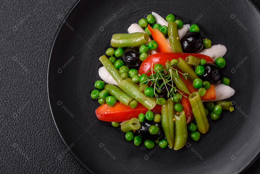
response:
M219 84L224 77L222 70L214 64L203 65L205 72L199 78L203 81L209 81L211 84Z

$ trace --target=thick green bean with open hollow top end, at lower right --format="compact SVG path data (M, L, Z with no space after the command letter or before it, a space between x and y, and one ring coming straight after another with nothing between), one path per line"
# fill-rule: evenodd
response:
M192 92L189 96L192 112L197 123L199 132L205 134L209 131L209 122L207 119L205 108L202 104L198 92Z

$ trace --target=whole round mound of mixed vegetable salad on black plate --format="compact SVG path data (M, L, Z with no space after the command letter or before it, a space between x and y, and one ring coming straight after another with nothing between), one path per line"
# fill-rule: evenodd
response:
M224 101L235 94L222 71L227 49L203 38L198 25L152 12L127 31L114 34L99 58L102 80L91 92L97 118L120 126L126 140L178 150L188 131L198 141L208 119L234 110Z

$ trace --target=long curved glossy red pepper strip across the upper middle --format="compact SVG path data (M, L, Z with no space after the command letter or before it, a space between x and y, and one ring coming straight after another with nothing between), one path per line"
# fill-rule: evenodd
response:
M165 65L167 60L171 61L172 59L179 59L182 58L185 60L186 57L189 55L198 57L200 59L205 59L207 63L214 63L211 57L204 55L204 54L198 54L198 53L156 53L148 56L141 64L139 69L139 74L146 73L147 71L151 70L152 64L160 63L162 65ZM151 75L151 71L147 73L147 75Z

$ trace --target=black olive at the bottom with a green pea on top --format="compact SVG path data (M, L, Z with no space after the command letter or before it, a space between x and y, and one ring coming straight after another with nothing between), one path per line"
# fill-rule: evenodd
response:
M145 120L144 122L140 123L141 127L137 130L137 133L139 136L141 136L143 139L145 140L158 140L162 137L163 135L163 130L162 130L162 126L159 123L152 121L148 121ZM156 135L152 135L149 132L149 127L155 125L157 127L159 127L159 132Z

